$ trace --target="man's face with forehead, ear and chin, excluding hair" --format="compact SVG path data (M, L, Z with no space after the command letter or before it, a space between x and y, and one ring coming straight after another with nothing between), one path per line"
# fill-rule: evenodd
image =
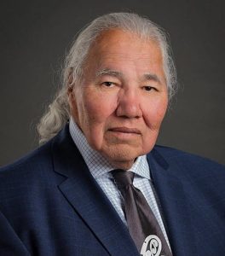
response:
M167 108L158 44L118 29L103 32L69 102L89 145L116 168L130 168L153 148Z

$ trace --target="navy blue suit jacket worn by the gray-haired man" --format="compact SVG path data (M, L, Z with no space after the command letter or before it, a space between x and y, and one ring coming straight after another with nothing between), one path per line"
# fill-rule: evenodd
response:
M224 167L159 146L147 160L174 255L225 255ZM139 255L68 126L1 169L0 255Z

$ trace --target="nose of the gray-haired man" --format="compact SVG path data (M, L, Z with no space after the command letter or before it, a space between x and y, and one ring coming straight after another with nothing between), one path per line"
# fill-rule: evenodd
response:
M141 117L140 97L136 90L127 89L119 91L116 114L124 118Z

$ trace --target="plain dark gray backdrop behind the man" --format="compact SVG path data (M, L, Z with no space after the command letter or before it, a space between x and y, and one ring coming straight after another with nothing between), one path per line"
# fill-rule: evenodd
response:
M38 146L35 125L72 38L114 11L146 15L170 33L180 90L158 143L225 164L224 1L14 0L0 3L0 166Z

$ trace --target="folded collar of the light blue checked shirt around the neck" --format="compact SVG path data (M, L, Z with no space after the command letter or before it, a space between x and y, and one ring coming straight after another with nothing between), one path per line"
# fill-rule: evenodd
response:
M73 142L77 145L78 150L89 167L89 171L95 178L101 177L102 175L105 175L115 169L105 157L89 146L86 137L84 137L84 133L78 128L78 125L72 118L70 119L69 123L69 131ZM141 177L150 179L146 155L139 156L128 171L135 172Z

